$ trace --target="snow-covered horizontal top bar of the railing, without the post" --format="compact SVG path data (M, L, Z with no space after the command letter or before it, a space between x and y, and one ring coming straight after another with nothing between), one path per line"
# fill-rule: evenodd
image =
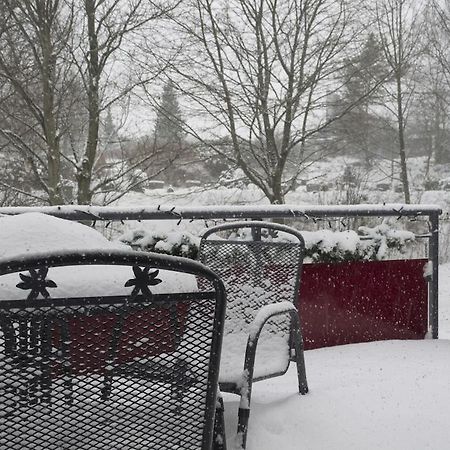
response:
M355 217L355 216L421 216L441 214L438 205L363 204L363 205L266 205L111 207L63 205L43 207L0 208L0 214L16 215L41 212L69 220L151 220L151 219L220 219L266 217Z

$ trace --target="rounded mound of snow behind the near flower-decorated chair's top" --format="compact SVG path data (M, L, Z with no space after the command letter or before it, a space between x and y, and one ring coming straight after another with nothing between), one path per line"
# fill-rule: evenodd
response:
M51 232L49 232L51 230ZM110 242L98 231L77 222L70 222L40 213L0 217L0 260L17 258L28 253L42 253L61 250L124 250L123 243ZM130 294L125 282L134 278L131 267L101 266L54 267L49 270L48 279L57 288L48 288L52 297L126 295ZM160 271L162 283L152 286L157 293L197 291L195 277L189 274L174 276L170 271ZM80 282L82 280L82 282ZM0 300L23 298L23 291L16 288L20 281L16 273L0 277Z

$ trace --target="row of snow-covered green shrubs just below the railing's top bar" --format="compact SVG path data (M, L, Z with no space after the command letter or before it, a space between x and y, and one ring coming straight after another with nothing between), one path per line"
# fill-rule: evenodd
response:
M392 251L404 252L408 244L415 240L414 233L393 228L383 222L374 228L360 227L355 231L301 231L305 239L305 262L339 262L382 260L390 257ZM248 239L242 234L240 239ZM287 236L262 234L263 239L286 240ZM198 253L200 238L187 231L171 231L168 233L149 230L130 230L119 240L133 248L184 256L195 259Z

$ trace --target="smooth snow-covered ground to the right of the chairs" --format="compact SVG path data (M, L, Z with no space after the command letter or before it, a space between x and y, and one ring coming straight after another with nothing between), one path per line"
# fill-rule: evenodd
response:
M291 365L254 384L248 450L450 448L450 264L440 266L440 339L344 345L305 353L310 392ZM225 394L233 449L237 397Z

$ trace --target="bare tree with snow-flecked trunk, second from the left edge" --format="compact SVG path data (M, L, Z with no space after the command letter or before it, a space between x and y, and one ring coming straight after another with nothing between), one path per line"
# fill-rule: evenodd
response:
M98 158L100 116L137 86L151 81L155 74L114 81L118 66L129 66L140 33L151 33L149 22L172 11L179 0L84 0L80 33L72 44L73 62L78 68L86 93L87 132L84 149L74 153L79 204L92 200L95 190L109 181L92 183ZM75 44L75 45L74 45ZM131 58L130 58L131 56Z

